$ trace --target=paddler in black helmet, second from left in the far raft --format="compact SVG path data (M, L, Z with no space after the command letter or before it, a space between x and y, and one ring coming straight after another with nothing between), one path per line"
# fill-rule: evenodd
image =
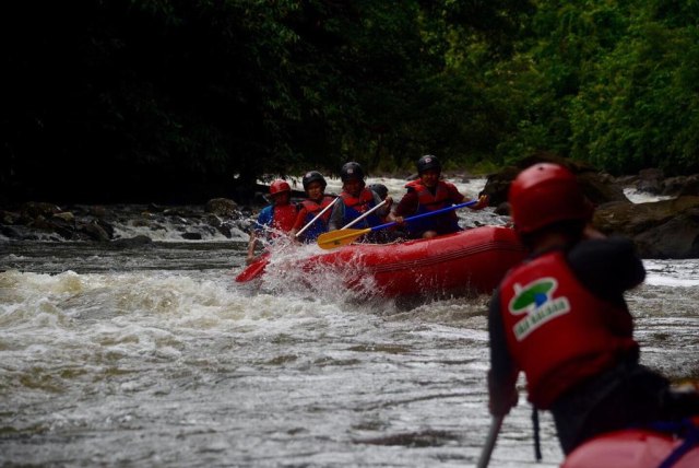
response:
M289 233L292 236L296 236L306 224L316 219L316 215L320 214L325 207L331 204L335 199L329 195L325 195L325 187L328 183L325 178L318 171L309 171L304 175L301 179L304 184L304 190L306 190L306 200L300 203L300 210L296 217L294 229ZM318 236L324 232L328 232L328 220L330 219L330 209L328 209L320 218L316 219L311 225L309 225L300 235L299 241L311 243L316 242Z

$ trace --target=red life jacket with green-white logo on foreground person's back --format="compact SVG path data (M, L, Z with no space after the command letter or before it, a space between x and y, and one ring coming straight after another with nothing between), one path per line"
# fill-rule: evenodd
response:
M500 300L510 353L537 408L638 349L628 308L590 293L560 250L512 270Z

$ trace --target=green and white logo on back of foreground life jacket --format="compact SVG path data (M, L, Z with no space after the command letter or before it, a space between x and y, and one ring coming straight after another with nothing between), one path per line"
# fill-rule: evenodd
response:
M526 314L512 327L518 341L522 341L548 320L570 312L568 297L553 297L557 288L558 281L550 277L532 281L525 286L514 284L514 296L508 309L512 315Z

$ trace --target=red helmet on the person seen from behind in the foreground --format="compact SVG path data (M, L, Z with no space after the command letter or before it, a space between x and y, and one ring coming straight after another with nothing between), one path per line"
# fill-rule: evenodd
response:
M514 229L523 234L558 221L592 218L578 179L558 164L540 163L522 171L510 185L508 199Z

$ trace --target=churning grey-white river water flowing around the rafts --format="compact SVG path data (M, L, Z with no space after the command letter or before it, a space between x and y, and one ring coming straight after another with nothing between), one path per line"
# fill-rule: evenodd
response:
M240 285L246 247L242 233L134 248L0 239L0 465L475 465L490 423L487 296L406 308L333 278ZM645 266L628 294L642 360L698 377L699 261ZM536 464L522 389L490 466L558 466L541 419Z

